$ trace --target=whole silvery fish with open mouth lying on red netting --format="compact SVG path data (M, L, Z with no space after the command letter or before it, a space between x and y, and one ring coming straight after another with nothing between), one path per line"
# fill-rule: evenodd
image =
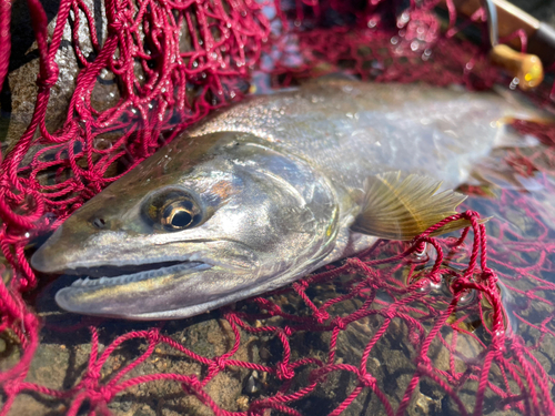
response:
M535 116L495 92L421 83L251 95L83 204L31 265L81 276L56 294L72 313L202 314L453 215L465 197L453 189L515 140L512 118Z

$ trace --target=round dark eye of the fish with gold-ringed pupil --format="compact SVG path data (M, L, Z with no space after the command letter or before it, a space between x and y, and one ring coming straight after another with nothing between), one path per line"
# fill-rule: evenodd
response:
M202 213L190 194L170 191L154 195L148 205L147 216L165 231L181 231L198 225Z

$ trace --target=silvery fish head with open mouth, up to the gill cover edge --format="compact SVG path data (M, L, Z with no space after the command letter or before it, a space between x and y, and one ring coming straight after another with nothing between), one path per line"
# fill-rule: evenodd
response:
M36 270L87 276L57 293L59 306L188 317L279 287L330 251L334 196L309 165L248 134L212 135L175 140L37 251ZM199 152L195 140L211 145Z

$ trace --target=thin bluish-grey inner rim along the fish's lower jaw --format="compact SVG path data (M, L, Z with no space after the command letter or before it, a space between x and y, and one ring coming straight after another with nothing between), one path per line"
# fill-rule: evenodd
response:
M149 265L144 265L149 266ZM150 265L151 266L151 265ZM70 287L95 287L95 286L114 286L123 285L133 282L141 282L149 278L155 278L161 276L167 276L171 274L181 274L183 272L193 273L211 268L210 264L203 262L183 262L165 267L150 268L145 271L140 271L131 274L123 274L121 276L102 276L102 277L91 277L85 276L84 278L78 278L74 281Z

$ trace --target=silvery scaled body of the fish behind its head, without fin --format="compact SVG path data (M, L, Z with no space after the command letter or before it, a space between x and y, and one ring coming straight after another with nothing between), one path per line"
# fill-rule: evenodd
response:
M252 97L190 134L253 133L310 160L340 186L361 187L370 174L401 170L455 187L503 133L497 121L523 112L496 93L326 80Z

